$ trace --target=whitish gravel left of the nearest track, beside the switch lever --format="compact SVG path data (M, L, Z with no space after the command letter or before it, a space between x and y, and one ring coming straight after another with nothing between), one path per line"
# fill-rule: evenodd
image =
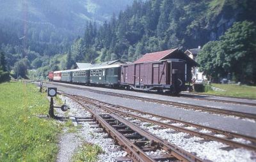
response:
M71 99L60 96L65 101L70 110L68 115L72 117L90 117L90 113L86 112L80 105L74 103ZM58 110L58 116L63 116L63 112ZM112 138L108 137L107 133L96 133L95 131L101 128L91 128L88 122L77 122L79 124L78 131L75 133L68 133L67 129L64 130L60 138L60 151L58 152L57 162L72 161L72 156L76 153L77 149L84 142L99 145L103 152L98 156L98 161L111 162L115 161L116 157L126 156L127 153L115 145Z

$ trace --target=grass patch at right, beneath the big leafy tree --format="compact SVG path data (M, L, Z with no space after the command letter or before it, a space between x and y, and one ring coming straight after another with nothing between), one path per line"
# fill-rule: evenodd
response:
M220 96L231 96L237 98L256 99L256 86L234 85L234 84L212 84L213 87L223 89L225 91L208 91L205 94L214 94Z

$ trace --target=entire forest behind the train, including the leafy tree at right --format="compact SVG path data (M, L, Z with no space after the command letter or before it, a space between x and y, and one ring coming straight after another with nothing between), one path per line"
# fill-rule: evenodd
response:
M83 34L34 24L22 40L17 35L22 27L8 22L0 26L4 66L13 76L19 66L20 77L45 78L76 62L132 62L147 52L201 46L198 63L208 77L231 74L255 84L255 6L250 0L136 0L102 24L86 21Z

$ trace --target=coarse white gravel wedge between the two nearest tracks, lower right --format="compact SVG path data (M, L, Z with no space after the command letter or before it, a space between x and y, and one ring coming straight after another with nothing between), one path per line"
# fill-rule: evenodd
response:
M133 121L127 117L129 121ZM228 145L216 141L205 141L204 138L198 136L190 136L188 133L172 133L176 132L174 129L156 129L157 125L152 125L149 122L142 122L138 119L134 120L141 128L146 129L150 133L168 140L168 142L177 145L185 151L196 154L199 158L211 161L244 161L250 162L256 160L256 152L248 151L246 149L223 149L228 148ZM191 129L193 129L191 127ZM222 148L222 149L221 149ZM214 152L214 154L212 154Z

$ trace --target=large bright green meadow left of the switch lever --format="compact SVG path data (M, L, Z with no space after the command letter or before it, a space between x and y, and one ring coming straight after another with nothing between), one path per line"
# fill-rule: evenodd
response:
M55 161L61 125L47 114L49 101L35 85L0 84L0 161Z

